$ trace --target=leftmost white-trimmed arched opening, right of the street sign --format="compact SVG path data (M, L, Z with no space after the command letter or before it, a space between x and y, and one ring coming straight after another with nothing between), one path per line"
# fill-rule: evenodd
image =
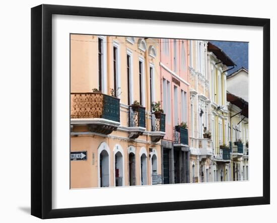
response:
M98 186L110 186L110 149L106 142L102 142L98 147Z

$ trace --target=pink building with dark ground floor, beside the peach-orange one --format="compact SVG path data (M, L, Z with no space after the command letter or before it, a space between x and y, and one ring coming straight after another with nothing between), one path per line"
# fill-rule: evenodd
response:
M188 41L159 41L161 99L166 113L166 135L162 140L163 183L188 183Z

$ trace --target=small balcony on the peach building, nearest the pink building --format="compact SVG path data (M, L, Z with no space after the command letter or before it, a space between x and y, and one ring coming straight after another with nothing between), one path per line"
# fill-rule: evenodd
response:
M158 142L165 135L165 114L152 114L151 141Z

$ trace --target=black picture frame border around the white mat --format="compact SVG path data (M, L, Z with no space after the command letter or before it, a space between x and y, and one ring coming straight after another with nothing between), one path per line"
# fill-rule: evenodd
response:
M51 97L52 15L95 16L257 26L263 28L263 196L52 209ZM31 9L31 214L40 218L76 217L270 203L270 20L76 6L40 5Z

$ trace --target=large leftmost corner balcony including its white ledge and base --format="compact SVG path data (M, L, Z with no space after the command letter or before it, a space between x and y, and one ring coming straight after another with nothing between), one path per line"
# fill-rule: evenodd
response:
M120 125L118 98L97 93L71 93L71 124L88 125L91 132L110 134Z

